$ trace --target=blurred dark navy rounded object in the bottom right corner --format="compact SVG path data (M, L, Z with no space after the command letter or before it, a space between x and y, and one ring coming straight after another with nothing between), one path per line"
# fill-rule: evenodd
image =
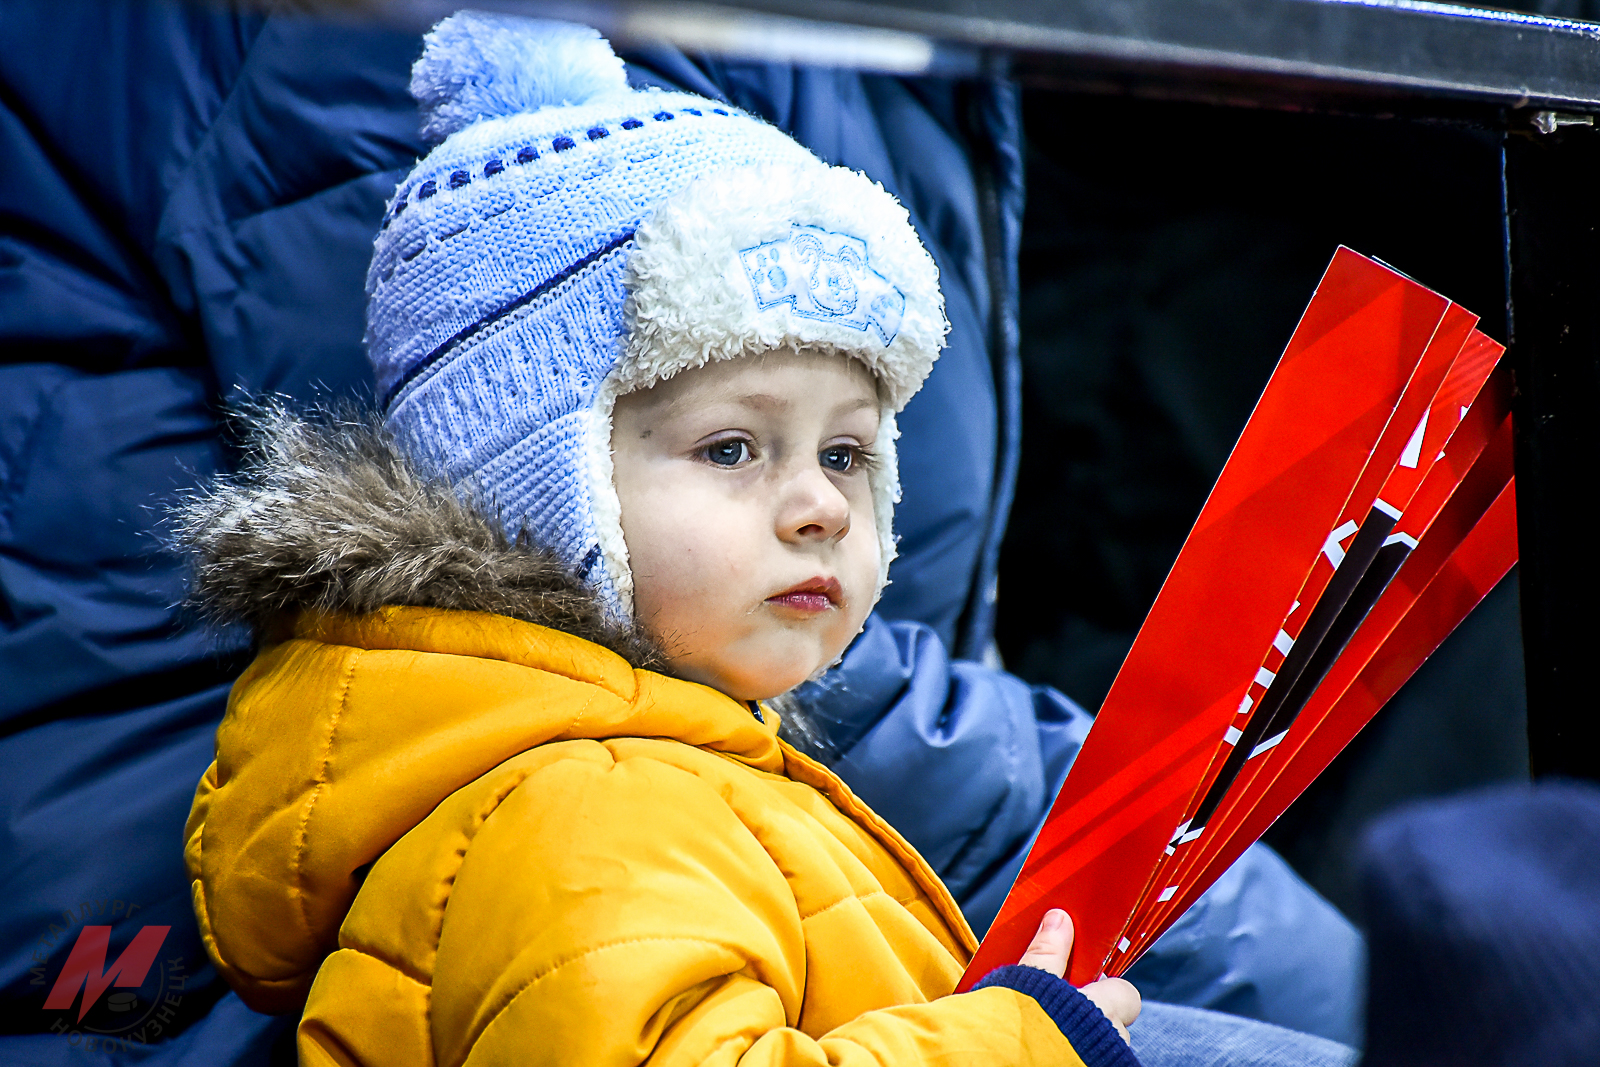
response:
M1368 1067L1600 1064L1600 790L1402 809L1363 846Z

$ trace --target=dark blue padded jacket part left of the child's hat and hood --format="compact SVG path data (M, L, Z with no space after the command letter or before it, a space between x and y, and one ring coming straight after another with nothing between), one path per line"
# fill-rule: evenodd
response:
M370 389L418 40L158 0L8 3L0 35L0 1062L266 1064L291 1021L218 979L182 869L246 649L174 606L160 509L227 462L235 387ZM178 1003L112 1037L110 993L45 1011L85 925L107 960L171 926Z

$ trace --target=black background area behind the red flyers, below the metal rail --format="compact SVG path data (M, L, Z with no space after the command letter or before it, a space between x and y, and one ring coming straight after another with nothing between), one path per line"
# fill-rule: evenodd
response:
M1498 136L1030 90L1008 667L1096 705L1338 245L1504 341ZM1515 579L1269 840L1350 910L1349 848L1418 795L1526 776Z

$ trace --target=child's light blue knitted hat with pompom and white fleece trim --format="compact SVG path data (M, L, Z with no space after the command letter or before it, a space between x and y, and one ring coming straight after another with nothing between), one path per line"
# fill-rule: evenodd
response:
M629 614L616 398L784 346L859 358L885 414L882 589L893 416L947 328L904 208L734 107L630 91L587 27L458 13L427 35L411 91L442 144L395 190L366 277L402 446Z

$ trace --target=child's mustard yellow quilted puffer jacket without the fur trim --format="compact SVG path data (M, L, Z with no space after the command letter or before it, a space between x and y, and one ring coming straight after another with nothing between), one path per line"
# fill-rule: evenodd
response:
M280 635L285 637L285 635ZM301 614L187 827L302 1064L1059 1064L917 853L770 712L496 614ZM309 997L307 997L309 990Z

